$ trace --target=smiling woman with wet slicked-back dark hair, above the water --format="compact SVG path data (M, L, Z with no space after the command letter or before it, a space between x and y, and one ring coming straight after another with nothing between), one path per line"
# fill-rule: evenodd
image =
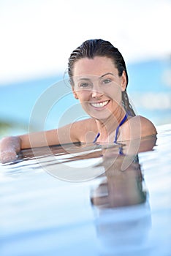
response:
M32 146L118 143L156 135L151 121L134 114L126 94L126 65L121 53L110 42L102 39L83 42L72 52L68 70L74 97L80 100L91 118L46 132L3 138L1 162L15 160L20 149Z

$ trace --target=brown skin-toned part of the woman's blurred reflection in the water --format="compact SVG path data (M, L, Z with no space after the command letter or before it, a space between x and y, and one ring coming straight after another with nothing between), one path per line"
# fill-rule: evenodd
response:
M121 170L124 158L123 156L118 157L113 165L108 163L107 159L103 162L106 178L91 198L95 206L115 208L145 202L146 191L143 189L143 178L138 157L134 158L134 162L131 162L126 170ZM108 167L109 165L110 167Z

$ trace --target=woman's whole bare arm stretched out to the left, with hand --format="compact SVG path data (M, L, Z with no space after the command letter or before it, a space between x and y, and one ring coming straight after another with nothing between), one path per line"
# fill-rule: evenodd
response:
M0 162L15 161L20 150L24 148L85 142L86 140L91 142L94 140L96 133L88 134L90 130L94 130L94 121L88 118L58 129L3 138L0 141Z

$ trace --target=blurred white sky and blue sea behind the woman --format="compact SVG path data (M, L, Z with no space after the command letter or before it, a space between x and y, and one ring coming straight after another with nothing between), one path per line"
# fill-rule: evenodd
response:
M170 13L170 0L1 0L0 137L28 131L40 95L55 83L62 94L70 53L94 38L123 54L136 112L156 126L170 123ZM69 104L68 92L52 103L46 129L57 127Z

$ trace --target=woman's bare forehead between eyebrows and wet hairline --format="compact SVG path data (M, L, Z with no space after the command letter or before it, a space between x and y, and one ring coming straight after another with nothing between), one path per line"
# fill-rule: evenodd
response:
M80 75L98 75L101 76L104 73L112 72L115 75L118 74L118 69L113 63L113 59L107 57L96 56L94 59L83 58L75 62L73 69L74 76Z

